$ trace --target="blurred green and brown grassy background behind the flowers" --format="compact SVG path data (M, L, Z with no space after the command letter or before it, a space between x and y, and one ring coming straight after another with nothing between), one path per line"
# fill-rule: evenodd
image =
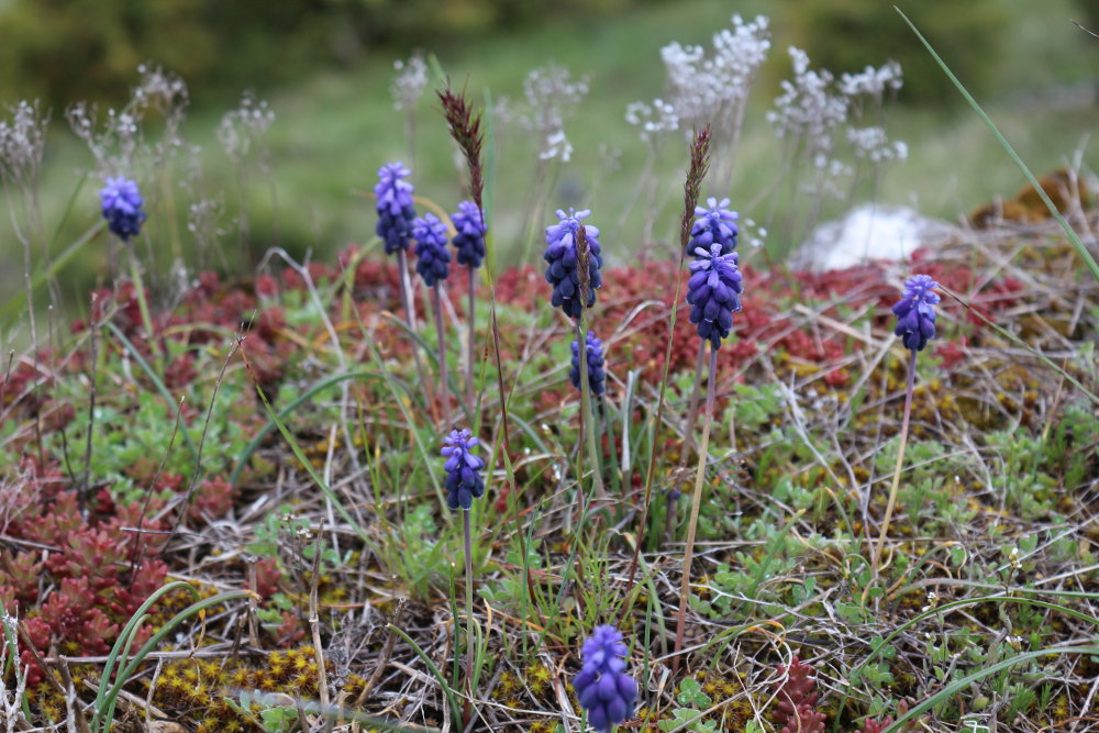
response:
M406 112L393 108L393 60L414 51L434 54L475 100L522 98L526 73L550 63L586 77L590 93L566 125L575 148L552 191L559 206L592 208L611 264L626 262L652 242L670 241L681 206L686 146L675 136L654 167L659 185L623 213L635 196L646 147L623 119L625 105L659 97L665 87L659 49L671 41L709 46L734 12L770 18L771 49L752 90L735 176L729 195L742 215L773 221L786 202L743 209L774 180L780 146L764 114L790 73L786 48L809 52L814 68L837 77L899 60L904 88L889 111L890 136L909 159L887 166L865 199L914 207L956 219L1022 184L980 122L926 55L893 0L0 0L0 101L42 100L52 125L41 203L52 252L63 251L95 224L100 174L63 111L89 100L102 111L125 102L140 64L163 66L188 84L187 143L167 182L142 180L159 192L157 216L141 245L155 280L167 281L176 260L190 270L241 274L270 245L291 254L331 258L373 236L369 191L376 170L410 159ZM919 0L898 3L1039 173L1094 159L1099 41L1072 20L1099 26L1094 0ZM454 148L432 90L414 110L411 157L418 193L453 211L463 196ZM244 185L219 144L217 130L243 90L269 102L276 119L266 136L268 165L253 165ZM100 115L102 116L102 115ZM149 140L156 135L156 124ZM539 196L537 149L531 136L490 119L492 221L498 264L528 251L524 224ZM193 147L192 147L193 146ZM196 177L193 171L201 169ZM187 173L189 171L189 173ZM185 175L187 173L187 175ZM201 186L197 186L200 181ZM154 182L159 188L153 188ZM164 188L164 187L167 188ZM170 189L170 190L168 190ZM170 212L163 204L171 200ZM217 256L199 251L187 230L188 207L218 201ZM791 200L792 201L792 200ZM851 201L829 204L840 213ZM803 204L803 202L802 202ZM790 203L792 206L792 203ZM242 236L240 213L247 214ZM67 212L67 215L66 215ZM552 213L550 214L552 216ZM159 221L155 221L159 218ZM165 220L171 218L171 222ZM544 223L542 224L544 225ZM773 226L764 247L780 259L799 241L796 226ZM0 222L0 286L21 292L22 249ZM110 277L106 237L84 247L58 276L80 292ZM43 245L46 246L46 245ZM237 249L248 248L249 256ZM535 247L537 245L535 244ZM34 253L41 264L42 253ZM244 263L245 265L242 265Z

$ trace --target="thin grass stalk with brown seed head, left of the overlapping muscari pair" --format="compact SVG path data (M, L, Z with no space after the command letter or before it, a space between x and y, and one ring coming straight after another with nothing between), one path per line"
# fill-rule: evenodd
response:
M671 314L668 316L668 345L664 353L664 371L660 375L660 391L656 400L656 421L654 424L657 426L664 424L664 403L668 391L668 374L671 369L671 346L676 330L676 315L679 312L679 293L682 291L684 259L687 257L687 243L690 241L691 213L698 207L702 179L706 178L706 174L710 169L710 125L706 125L701 130L696 129L689 147L690 164L687 168L687 179L684 182L684 213L679 219L679 275L676 277L676 292L671 299ZM653 431L652 440L653 445L650 446L648 452L648 468L645 471L645 499L641 512L641 523L637 525L637 542L633 548L633 558L630 560L630 571L628 573L629 582L625 590L628 597L633 589L641 546L645 538L645 527L648 526L648 507L653 498L653 476L656 471L656 451L654 449L656 431ZM623 606L623 619L629 615L631 609L630 603Z

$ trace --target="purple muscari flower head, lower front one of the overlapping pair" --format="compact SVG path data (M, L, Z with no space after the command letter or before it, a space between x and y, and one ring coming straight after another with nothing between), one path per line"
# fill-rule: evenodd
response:
M714 242L709 251L695 251L695 262L690 264L690 281L687 284L687 302L690 304L690 322L698 324L698 335L709 338L714 348L733 327L733 313L741 310L741 270L735 252L722 254L721 244Z

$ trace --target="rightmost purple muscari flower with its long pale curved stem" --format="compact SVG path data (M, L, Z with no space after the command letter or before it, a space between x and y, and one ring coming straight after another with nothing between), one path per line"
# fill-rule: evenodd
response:
M913 275L904 282L904 290L901 299L893 306L892 311L897 315L897 327L893 333L900 336L904 348L911 352L908 359L908 382L904 389L904 417L900 424L900 446L897 448L897 465L893 467L892 484L889 487L889 500L886 502L886 515L881 520L881 533L878 535L877 545L874 547L874 557L870 562L872 574L875 578L878 575L878 565L881 562L881 551L889 535L889 522L892 520L893 510L897 508L897 491L900 488L900 468L904 465L904 446L908 443L908 426L912 418L912 392L915 389L915 355L928 345L928 342L935 337L935 306L941 300L935 288L935 282L929 275ZM867 584L863 596L867 595L870 585Z

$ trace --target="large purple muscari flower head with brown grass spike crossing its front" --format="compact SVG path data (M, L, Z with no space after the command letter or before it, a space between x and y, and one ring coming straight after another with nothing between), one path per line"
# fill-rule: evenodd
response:
M591 308L596 304L596 289L603 284L602 277L599 275L599 268L603 266L603 257L599 248L599 227L586 225L584 233L588 242L590 287L588 302L581 306L576 233L580 229L580 221L590 213L588 210L574 212L569 209L566 214L558 209L557 219L560 221L546 227L546 251L542 258L547 263L546 282L553 286L551 302L555 308L560 307L565 314L570 318L580 318L580 311L584 308Z

